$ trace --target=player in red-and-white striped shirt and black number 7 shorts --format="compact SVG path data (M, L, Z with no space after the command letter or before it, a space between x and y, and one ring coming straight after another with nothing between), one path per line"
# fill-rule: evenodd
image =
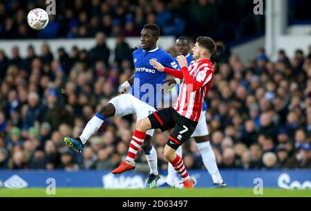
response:
M187 169L182 158L176 154L176 149L190 138L198 125L202 104L214 77L214 68L210 58L215 48L216 44L213 39L198 37L194 48L192 48L195 61L191 62L189 67L185 56L179 55L177 57L182 71L164 67L155 60L150 61L158 71L164 71L173 77L184 79L178 100L173 107L153 112L147 118L138 121L128 156L120 167L113 170L114 172L122 173L133 169L129 160L133 163L133 159L135 159L149 129L160 128L162 131L166 131L174 128L167 145L164 147L164 156L182 177L184 187L194 187L194 179L187 174Z

